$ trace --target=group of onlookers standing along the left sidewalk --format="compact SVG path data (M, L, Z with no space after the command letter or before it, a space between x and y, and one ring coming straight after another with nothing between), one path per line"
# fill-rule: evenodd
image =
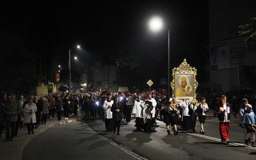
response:
M6 130L4 141L13 141L26 125L28 134L34 134L34 128L47 124L47 119L77 116L78 99L75 95L31 96L28 100L23 95L3 93L0 100L0 138Z

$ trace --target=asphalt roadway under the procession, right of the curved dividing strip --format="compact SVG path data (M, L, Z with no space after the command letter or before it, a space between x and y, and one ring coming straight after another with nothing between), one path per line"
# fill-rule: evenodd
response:
M210 115L210 114L209 114ZM134 120L121 125L121 136L104 132L100 120L86 120L95 131L120 147L132 150L147 159L255 159L256 148L244 145L243 129L238 127L239 119L234 118L230 127L230 144L220 142L219 122L216 117L208 116L205 122L205 135L193 132L179 132L177 136L167 135L163 122L153 127L154 132L134 132ZM196 131L200 131L196 122Z

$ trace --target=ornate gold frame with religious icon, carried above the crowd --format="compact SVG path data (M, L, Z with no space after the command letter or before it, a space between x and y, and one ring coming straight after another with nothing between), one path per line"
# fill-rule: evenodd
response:
M196 99L196 88L198 86L198 82L196 81L195 67L190 67L186 59L184 59L179 67L173 68L172 77L173 80L171 82L171 87L173 92L172 97L174 99L176 99L178 102L192 102ZM182 81L186 81L183 87Z

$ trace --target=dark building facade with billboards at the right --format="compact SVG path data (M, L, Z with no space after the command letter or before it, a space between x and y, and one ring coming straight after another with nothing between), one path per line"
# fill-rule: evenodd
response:
M256 42L239 35L239 26L256 17L255 6L249 0L209 0L209 80L223 92L255 87Z

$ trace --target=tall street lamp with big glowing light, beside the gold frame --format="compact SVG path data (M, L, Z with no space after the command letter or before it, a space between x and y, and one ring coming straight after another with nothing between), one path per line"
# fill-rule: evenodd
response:
M163 26L163 22L160 17L154 17L149 22L150 29L157 31L161 28L168 30L168 97L170 97L170 30Z

